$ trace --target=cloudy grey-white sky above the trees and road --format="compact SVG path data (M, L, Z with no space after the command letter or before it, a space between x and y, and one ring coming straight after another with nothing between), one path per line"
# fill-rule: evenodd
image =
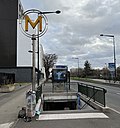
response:
M24 10L61 10L61 14L49 14L48 31L41 37L45 53L58 55L57 64L69 68L84 67L88 60L92 68L103 68L113 62L113 38L115 36L116 61L120 66L120 0L21 0ZM24 44L27 47L29 43Z

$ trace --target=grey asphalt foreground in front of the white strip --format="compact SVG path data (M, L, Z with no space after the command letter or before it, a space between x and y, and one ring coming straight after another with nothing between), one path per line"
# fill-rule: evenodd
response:
M20 119L12 128L120 128L120 114L110 110L109 113L96 113L97 115L101 114L101 117L93 117L90 116L90 113L79 113L81 117L72 119L67 119L67 117L59 119L59 114L57 114L59 116L57 119L40 120L41 117L39 117L39 120L34 118L31 122ZM87 117L85 117L85 114L87 114ZM47 115L47 117L50 117L50 115Z

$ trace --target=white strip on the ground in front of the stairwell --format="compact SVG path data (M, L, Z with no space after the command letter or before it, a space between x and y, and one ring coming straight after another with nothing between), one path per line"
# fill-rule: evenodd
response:
M109 118L104 113L41 114L38 120Z

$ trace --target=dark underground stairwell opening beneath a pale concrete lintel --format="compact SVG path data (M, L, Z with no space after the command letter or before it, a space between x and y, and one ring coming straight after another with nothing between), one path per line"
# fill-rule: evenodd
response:
M59 111L59 110L80 110L85 104L77 93L46 93L43 94L43 111ZM93 110L86 105L84 110Z

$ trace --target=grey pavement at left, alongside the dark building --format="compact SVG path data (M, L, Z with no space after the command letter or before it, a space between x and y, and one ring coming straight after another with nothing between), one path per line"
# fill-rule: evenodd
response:
M25 93L29 88L21 86L16 91L0 93L0 125L17 119L19 110L25 106Z

